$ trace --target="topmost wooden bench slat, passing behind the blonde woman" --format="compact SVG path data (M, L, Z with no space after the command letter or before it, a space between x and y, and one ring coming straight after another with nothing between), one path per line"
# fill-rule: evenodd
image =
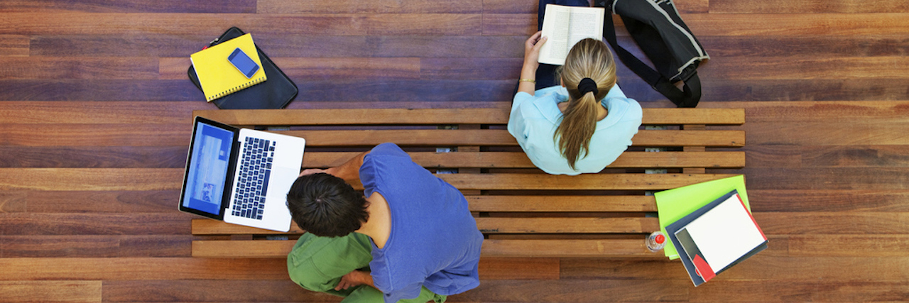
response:
M217 122L233 125L408 125L506 124L511 103L498 108L458 109L283 109L194 111ZM744 109L645 108L644 124L736 125L744 123Z

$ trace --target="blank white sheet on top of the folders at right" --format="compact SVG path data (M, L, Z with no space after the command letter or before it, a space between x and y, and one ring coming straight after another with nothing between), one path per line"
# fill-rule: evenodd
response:
M714 271L724 269L766 240L738 195L688 223L685 229Z

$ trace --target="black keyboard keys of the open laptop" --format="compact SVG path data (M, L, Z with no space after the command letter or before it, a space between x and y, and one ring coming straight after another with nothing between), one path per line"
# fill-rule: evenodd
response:
M262 220L268 177L275 158L275 144L268 140L246 138L240 151L240 175L236 181L232 214L253 220Z

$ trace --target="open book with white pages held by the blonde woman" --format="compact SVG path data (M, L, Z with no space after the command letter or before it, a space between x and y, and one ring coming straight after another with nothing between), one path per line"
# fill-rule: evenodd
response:
M562 65L574 44L584 38L603 40L603 7L546 5L540 48L541 64Z

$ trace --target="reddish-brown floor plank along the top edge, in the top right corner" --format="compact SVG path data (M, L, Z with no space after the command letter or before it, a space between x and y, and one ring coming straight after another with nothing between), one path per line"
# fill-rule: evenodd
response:
M710 13L723 14L804 14L804 13L909 13L909 5L899 0L771 0L743 3L734 0L711 0Z

